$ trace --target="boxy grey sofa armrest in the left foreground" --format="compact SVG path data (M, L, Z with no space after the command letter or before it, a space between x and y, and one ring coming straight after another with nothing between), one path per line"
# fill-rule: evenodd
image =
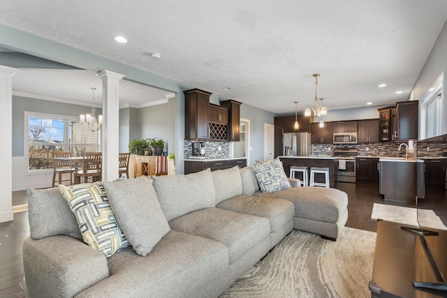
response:
M110 276L105 255L73 237L28 237L22 252L28 297L73 297Z

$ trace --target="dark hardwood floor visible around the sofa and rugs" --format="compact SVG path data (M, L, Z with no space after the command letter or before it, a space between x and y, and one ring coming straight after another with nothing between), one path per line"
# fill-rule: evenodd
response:
M384 202L379 196L379 184L342 183L337 188L348 194L346 226L376 232L377 223L371 219L374 203ZM13 206L26 204L24 191L13 193ZM414 207L414 206L407 206ZM419 207L432 209L447 226L447 194L441 190L427 190ZM27 297L22 265L22 242L29 236L28 212L14 214L14 221L0 223L0 297Z

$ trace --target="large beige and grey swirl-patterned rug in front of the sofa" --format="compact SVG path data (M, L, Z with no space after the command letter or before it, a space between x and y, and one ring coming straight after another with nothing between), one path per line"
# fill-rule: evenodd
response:
M337 241L293 230L221 295L371 297L376 233L345 227Z

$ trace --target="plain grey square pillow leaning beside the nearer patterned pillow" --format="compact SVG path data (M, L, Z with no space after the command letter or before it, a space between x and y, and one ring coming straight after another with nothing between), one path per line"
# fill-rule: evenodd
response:
M154 186L141 176L104 182L104 188L119 227L136 253L144 257L170 231Z

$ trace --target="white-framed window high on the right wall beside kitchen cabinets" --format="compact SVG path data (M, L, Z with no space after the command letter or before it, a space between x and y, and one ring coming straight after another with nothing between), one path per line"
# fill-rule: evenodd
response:
M444 135L447 131L445 79L443 72L420 101L420 140Z

